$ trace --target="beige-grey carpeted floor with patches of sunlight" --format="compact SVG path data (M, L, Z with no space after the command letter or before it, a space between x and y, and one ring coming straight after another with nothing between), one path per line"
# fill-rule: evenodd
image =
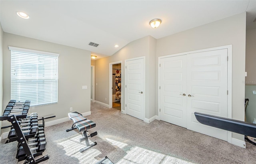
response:
M155 120L148 124L119 110L108 109L96 103L91 105L92 115L86 116L96 123L89 138L97 145L80 153L77 130L66 132L72 121L45 128L47 147L42 164L94 164L108 156L115 164L254 164L256 146L246 142L240 148L204 134ZM0 143L0 163L17 162L17 142Z

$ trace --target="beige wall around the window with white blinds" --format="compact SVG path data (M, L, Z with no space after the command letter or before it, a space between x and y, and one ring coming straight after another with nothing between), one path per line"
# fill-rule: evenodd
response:
M10 50L8 46L35 49L59 53L58 58L58 103L40 107L30 107L29 112L38 113L39 117L56 115L52 121L68 117L69 108L79 113L90 111L90 51L36 40L4 32L3 38L3 105L10 100ZM82 89L87 85L87 89ZM6 124L6 122L4 122ZM3 123L3 126L5 126ZM10 129L6 129L8 131Z

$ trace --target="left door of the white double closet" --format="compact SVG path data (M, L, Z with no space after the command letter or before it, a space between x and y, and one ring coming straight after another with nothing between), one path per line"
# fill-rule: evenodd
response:
M160 59L160 119L184 128L187 127L186 65L186 55Z

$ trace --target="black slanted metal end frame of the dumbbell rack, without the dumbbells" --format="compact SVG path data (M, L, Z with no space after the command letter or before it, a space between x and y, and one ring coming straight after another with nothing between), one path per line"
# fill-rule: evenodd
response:
M17 134L17 141L21 144L21 146L24 148L24 151L26 153L26 160L24 164L38 164L42 161L48 160L49 156L45 155L42 158L39 158L35 160L34 154L31 152L30 147L28 146L28 142L26 140L26 137L22 133L22 129L20 128L20 125L17 121L17 119L24 119L26 118L26 115L8 115L8 116L0 116L0 121L9 121L12 123L12 126L15 129L15 132Z

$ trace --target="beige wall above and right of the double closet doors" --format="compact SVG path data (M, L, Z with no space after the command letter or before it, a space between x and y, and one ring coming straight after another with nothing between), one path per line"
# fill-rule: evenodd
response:
M218 20L156 41L156 55L232 45L232 118L244 121L246 13ZM242 135L232 134L243 140Z

